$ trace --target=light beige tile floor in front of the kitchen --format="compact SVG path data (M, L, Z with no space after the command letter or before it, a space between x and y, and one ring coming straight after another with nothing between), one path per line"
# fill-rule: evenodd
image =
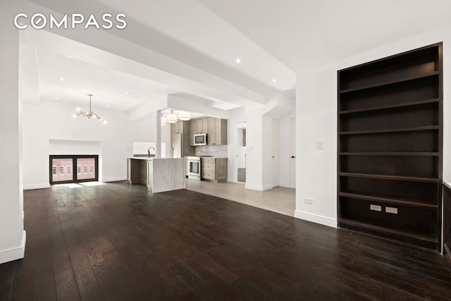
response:
M288 216L295 214L296 190L294 188L276 187L271 190L257 191L245 189L245 183L211 183L197 180L187 180L186 188Z

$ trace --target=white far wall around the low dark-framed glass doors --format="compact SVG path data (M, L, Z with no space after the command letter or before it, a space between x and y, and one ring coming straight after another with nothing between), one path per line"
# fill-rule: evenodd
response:
M127 114L109 109L98 113L109 122L105 125L85 117L72 118L75 106L58 102L40 102L23 106L23 183L25 189L49 186L50 142L73 147L80 154L86 143L98 143L99 180L125 180L128 156L133 155L133 142L154 142L155 118L147 116L128 121ZM161 142L171 143L171 129L161 128ZM91 152L91 149L89 150ZM166 149L166 152L168 150ZM170 156L166 153L166 156Z

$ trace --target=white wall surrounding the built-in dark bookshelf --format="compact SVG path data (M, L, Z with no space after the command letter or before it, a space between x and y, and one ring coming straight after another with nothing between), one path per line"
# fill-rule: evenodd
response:
M443 41L444 146L443 178L451 180L451 28L383 45L365 53L297 73L297 194L295 216L328 226L337 218L337 70ZM324 149L316 142L324 141ZM305 204L306 197L314 204Z

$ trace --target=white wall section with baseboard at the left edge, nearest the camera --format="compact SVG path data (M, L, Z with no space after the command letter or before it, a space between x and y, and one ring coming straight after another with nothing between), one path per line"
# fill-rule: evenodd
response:
M19 31L11 26L14 16L11 6L0 10L0 166L4 171L0 173L0 264L23 258L26 240L23 230Z

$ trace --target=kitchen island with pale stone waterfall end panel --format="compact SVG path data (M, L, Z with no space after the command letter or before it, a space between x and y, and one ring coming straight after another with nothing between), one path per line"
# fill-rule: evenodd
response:
M184 158L135 156L127 159L129 184L146 185L150 192L185 188Z

